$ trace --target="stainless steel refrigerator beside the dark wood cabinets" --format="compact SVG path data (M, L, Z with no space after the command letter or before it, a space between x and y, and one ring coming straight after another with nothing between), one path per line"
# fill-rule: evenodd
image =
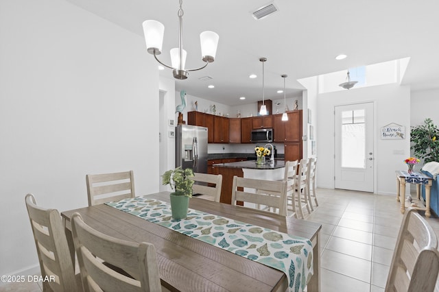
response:
M176 167L207 173L207 128L196 125L176 127Z

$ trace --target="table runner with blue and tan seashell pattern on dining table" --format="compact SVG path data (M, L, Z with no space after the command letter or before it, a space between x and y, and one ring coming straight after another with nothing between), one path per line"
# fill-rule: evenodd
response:
M303 291L313 274L308 239L193 209L185 219L172 219L169 204L147 197L106 205L283 271L289 291Z

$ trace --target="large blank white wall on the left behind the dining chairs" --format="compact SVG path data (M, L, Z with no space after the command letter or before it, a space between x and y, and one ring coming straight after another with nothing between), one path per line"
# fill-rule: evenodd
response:
M0 2L0 274L38 271L25 208L87 206L86 173L158 191L158 70L141 36L58 0Z

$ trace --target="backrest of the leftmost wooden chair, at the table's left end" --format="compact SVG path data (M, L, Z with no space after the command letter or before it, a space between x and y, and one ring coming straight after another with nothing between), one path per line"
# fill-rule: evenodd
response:
M34 233L36 253L40 262L44 291L78 291L75 269L71 262L69 246L64 233L60 213L55 209L45 209L36 205L35 197L25 197L30 225ZM54 279L54 280L52 280Z

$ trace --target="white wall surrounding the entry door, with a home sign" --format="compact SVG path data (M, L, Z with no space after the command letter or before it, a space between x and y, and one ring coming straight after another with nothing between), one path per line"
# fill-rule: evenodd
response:
M318 95L318 186L334 187L334 106L365 101L375 103L375 193L394 195L394 171L405 167L403 159L410 156L410 87L397 84L353 88ZM404 125L407 138L381 140L379 129L388 123Z

